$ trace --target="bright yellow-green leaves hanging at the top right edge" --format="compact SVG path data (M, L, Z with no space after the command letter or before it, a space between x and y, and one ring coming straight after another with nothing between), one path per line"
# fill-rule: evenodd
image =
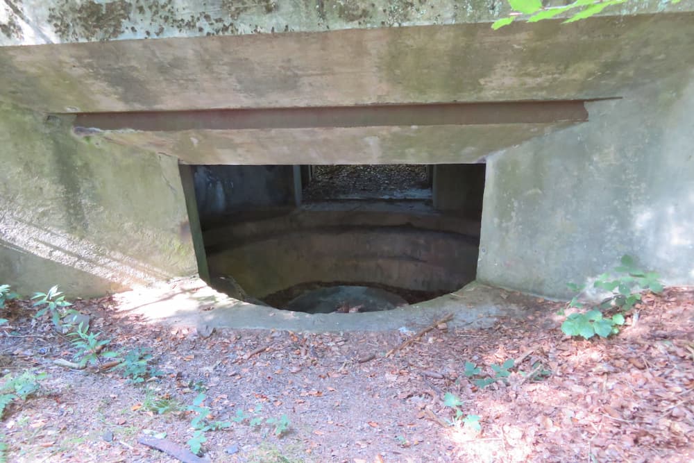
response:
M555 16L569 12L570 16L565 19L563 24L576 22L597 15L605 8L620 5L621 3L634 3L635 0L576 0L565 6L543 6L541 0L508 0L511 9L514 10L511 16L498 19L491 25L494 30L507 26L514 22L518 17L523 17L527 22L538 22L543 19L552 19ZM681 0L669 0L673 5ZM663 3L668 3L665 0Z

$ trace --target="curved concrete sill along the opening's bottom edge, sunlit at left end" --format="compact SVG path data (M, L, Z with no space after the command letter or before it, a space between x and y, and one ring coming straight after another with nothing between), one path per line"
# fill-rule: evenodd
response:
M306 314L254 305L214 291L198 278L142 287L115 295L119 312L146 321L195 327L201 335L214 328L256 328L296 332L418 330L446 314L452 328L489 328L498 317L521 317L532 296L509 298L505 289L470 283L457 292L382 312Z

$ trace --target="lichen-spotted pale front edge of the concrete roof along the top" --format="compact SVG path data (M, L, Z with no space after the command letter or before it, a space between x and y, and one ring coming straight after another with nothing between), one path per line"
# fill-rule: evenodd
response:
M687 3L629 1L600 15L691 10ZM494 0L2 0L0 45L460 24L508 13Z

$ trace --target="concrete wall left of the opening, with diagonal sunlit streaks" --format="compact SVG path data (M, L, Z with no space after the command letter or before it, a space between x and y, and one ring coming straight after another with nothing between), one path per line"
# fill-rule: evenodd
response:
M178 161L70 126L0 104L0 283L93 296L195 273Z

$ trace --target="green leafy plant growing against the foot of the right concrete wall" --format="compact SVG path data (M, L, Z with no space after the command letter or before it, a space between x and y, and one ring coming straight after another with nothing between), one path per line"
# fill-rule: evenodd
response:
M663 291L663 285L659 281L659 276L654 272L645 272L636 267L634 259L629 255L624 255L621 265L615 267L613 274L602 273L593 283L596 289L611 292L612 295L604 299L602 303L593 305L585 312L575 312L566 317L561 323L561 331L569 336L581 336L584 339L598 335L608 337L616 335L619 327L625 322L625 314L634 307L634 304L641 301L641 292L650 290L656 294ZM568 284L569 289L577 292L568 303L569 308L584 308L585 304L580 301L585 287ZM612 317L606 317L603 310L618 310Z

